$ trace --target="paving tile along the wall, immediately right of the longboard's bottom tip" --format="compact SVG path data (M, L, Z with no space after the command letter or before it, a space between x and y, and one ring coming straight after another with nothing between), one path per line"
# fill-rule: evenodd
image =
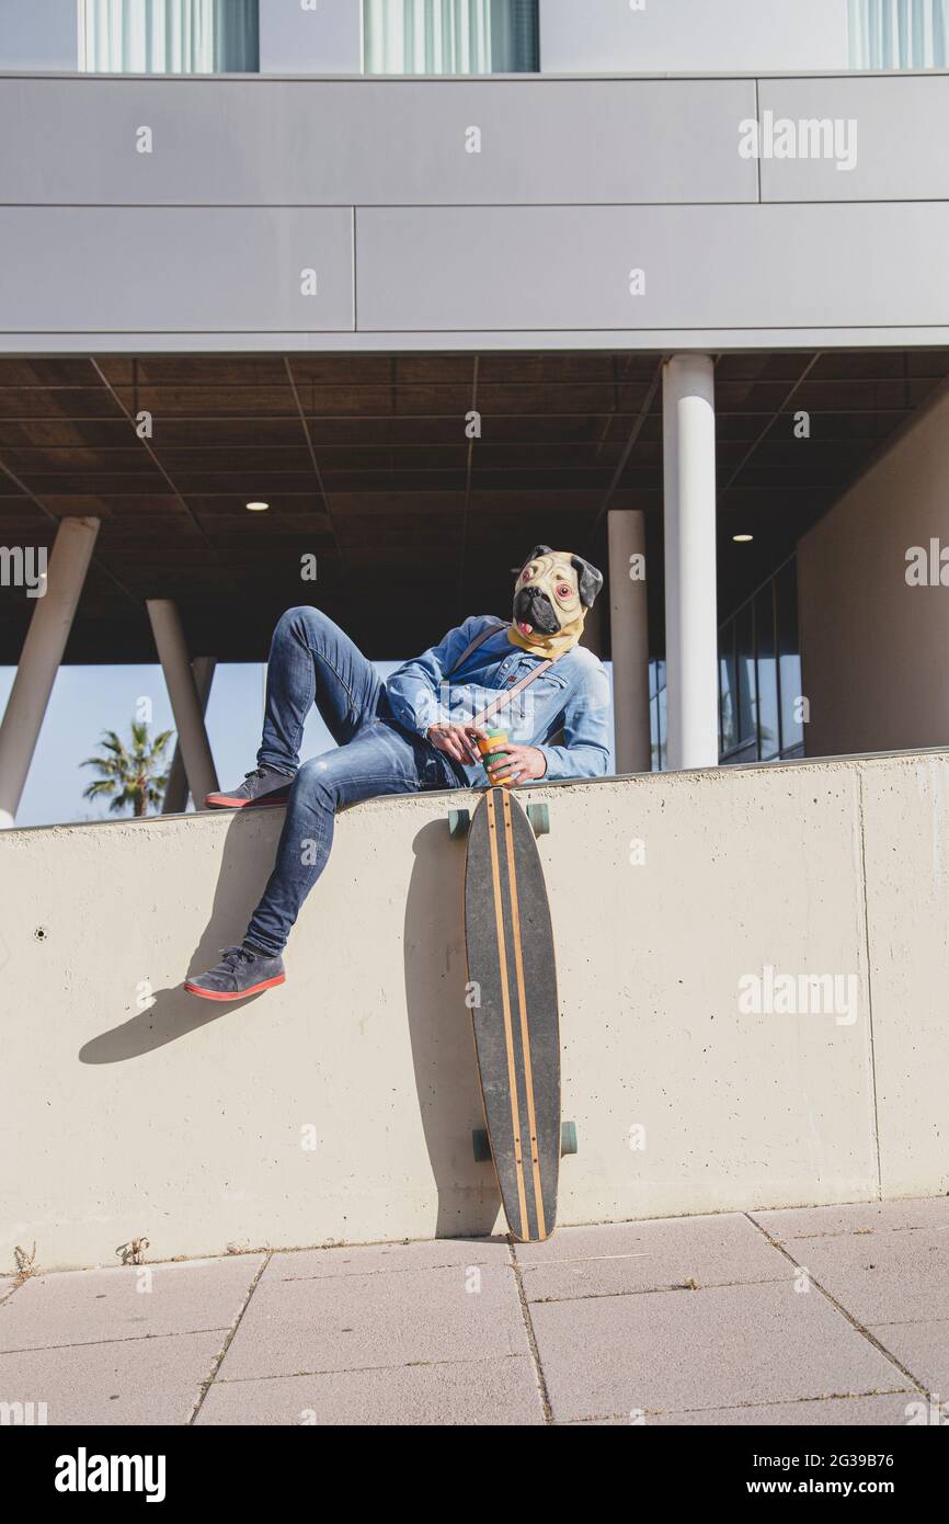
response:
M515 1253L529 1301L794 1276L784 1254L740 1213L561 1228L545 1244L518 1244Z

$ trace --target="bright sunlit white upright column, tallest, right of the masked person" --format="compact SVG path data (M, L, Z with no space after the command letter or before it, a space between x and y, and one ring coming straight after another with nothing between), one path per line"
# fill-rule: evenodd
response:
M669 767L716 767L719 689L714 541L714 369L663 367Z

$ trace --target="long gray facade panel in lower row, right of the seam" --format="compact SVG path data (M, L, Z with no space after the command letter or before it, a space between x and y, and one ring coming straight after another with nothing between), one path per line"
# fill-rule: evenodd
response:
M358 326L944 325L949 206L356 212ZM631 268L646 294L629 294Z

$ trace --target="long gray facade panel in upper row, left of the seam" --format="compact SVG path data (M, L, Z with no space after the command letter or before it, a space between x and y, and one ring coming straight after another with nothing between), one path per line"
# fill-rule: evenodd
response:
M0 201L752 201L754 110L751 79L3 79Z

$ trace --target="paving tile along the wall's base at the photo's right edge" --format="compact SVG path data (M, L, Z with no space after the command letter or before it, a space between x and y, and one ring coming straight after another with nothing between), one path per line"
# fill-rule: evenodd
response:
M949 1233L848 1233L794 1239L789 1253L862 1323L949 1318Z

